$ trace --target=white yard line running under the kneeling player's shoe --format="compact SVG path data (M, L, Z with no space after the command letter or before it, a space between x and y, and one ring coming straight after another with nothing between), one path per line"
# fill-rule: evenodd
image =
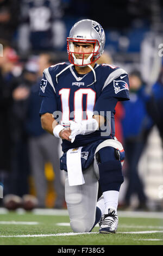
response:
M163 233L163 230L118 232L117 234L153 234L153 233ZM46 237L46 236L73 236L73 235L90 235L90 234L99 234L99 233L88 232L88 233L59 233L59 234L40 234L40 235L0 235L0 237Z

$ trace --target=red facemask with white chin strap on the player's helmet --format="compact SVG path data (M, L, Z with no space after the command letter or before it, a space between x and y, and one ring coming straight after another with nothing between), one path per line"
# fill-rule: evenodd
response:
M74 42L93 44L93 51L86 52L86 53L74 52ZM99 57L101 56L101 53L99 53L99 48L100 48L100 45L97 39L67 38L68 59L72 64L77 66L86 66L96 62L96 60L99 59ZM83 58L77 59L75 54L80 54L80 55L83 54ZM85 54L90 54L90 55L89 57L85 58Z

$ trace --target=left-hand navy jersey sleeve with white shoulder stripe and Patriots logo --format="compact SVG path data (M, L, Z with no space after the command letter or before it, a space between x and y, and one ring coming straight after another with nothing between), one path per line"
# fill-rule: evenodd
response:
M57 96L48 69L43 71L43 77L40 84L39 96L42 97L42 103L39 114L54 113L57 111Z

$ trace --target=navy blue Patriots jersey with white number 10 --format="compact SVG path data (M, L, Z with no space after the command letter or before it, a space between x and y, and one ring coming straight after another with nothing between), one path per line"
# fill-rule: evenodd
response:
M70 120L81 122L92 118L93 114L100 114L109 123L109 133L97 130L76 136L73 143L62 140L63 151L115 137L114 109L117 101L129 100L128 75L123 69L106 64L96 64L94 70L96 77L92 71L81 75L76 72L74 65L59 63L43 72L40 115L60 111L60 123L65 125ZM110 118L108 113L111 113Z

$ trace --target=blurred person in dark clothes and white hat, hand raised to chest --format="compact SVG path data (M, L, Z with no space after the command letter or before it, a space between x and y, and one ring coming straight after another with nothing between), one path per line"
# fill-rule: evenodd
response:
M13 81L12 91L12 172L9 177L9 193L22 197L29 194L28 135L24 127L30 88L37 79L37 65L29 57L20 76Z

